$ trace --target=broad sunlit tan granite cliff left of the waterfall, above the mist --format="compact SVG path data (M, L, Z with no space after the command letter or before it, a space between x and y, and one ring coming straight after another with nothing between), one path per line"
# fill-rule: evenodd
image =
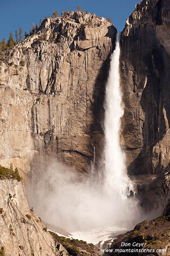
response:
M99 164L115 35L103 17L68 12L0 55L0 164L24 175L52 158L88 172L94 147Z

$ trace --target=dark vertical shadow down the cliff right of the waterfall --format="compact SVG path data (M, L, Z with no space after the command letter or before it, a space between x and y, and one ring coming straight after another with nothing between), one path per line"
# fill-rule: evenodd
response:
M159 143L166 133L164 111L166 112L168 126L170 125L170 72L166 66L170 66L170 56L162 45L155 45L152 52L143 56L147 67L147 84L142 92L140 105L145 113L142 129L143 148L135 160L128 167L131 174L154 174L167 172L170 163L164 168L161 165L161 152L159 163L154 167L153 147ZM142 65L142 64L141 64Z

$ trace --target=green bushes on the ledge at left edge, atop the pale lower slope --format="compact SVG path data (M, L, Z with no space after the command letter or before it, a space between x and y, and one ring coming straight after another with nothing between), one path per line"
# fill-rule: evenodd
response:
M23 178L19 175L18 169L15 168L15 171L13 170L12 163L10 164L9 169L0 165L0 180L3 179L14 179L18 181L23 180Z

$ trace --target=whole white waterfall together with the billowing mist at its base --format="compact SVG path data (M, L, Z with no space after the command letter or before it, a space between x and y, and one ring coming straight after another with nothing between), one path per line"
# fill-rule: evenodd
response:
M30 206L43 220L65 228L74 238L94 244L122 233L125 228L134 227L135 222L141 220L138 203L129 196L133 185L127 176L119 141L124 113L119 84L119 54L117 33L105 93L104 171L95 170L93 162L92 176L78 182L75 172L60 163L51 163L48 170L41 172L38 184L37 178L32 178L31 197L27 192ZM103 172L102 183L98 179L100 175L95 173Z

